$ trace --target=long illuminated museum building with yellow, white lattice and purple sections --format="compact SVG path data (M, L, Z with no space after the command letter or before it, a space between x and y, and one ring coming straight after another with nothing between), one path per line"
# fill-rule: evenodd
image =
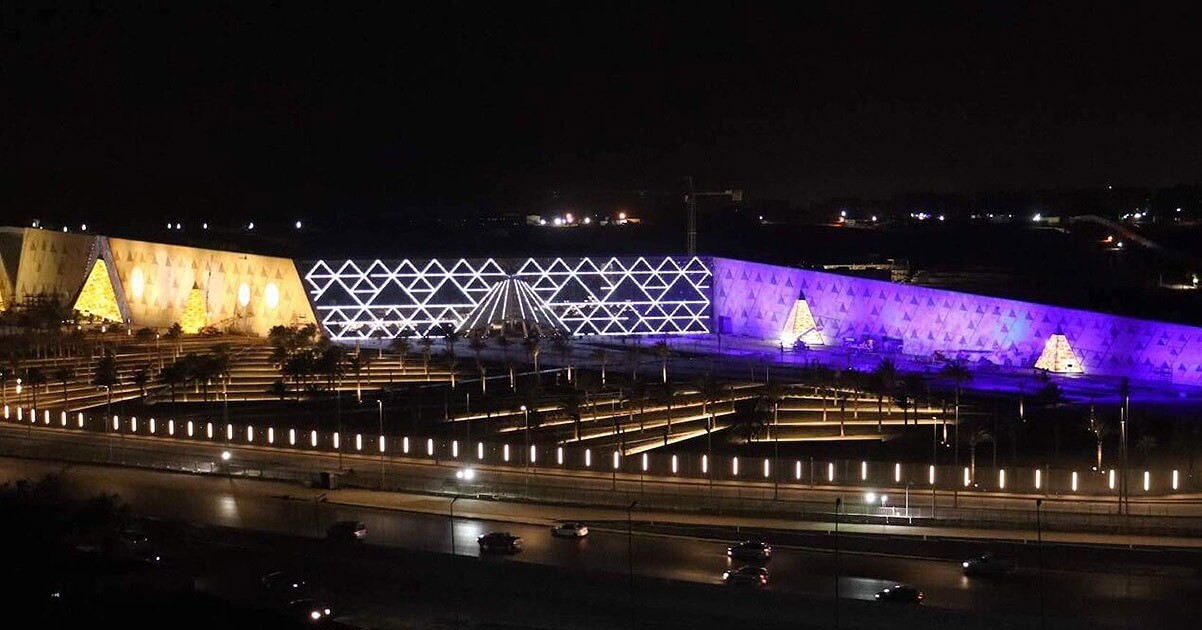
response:
M299 260L0 228L0 309L334 339L707 335L1202 386L1202 328L721 257Z

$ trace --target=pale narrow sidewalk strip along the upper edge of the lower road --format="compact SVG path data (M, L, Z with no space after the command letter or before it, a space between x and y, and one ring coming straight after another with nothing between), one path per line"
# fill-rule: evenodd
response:
M427 515L448 515L453 497L435 497L398 492L377 492L364 489L339 489L327 495L327 503L357 507L375 507ZM559 521L584 521L593 523L624 522L625 510L606 507L569 507L558 505L526 504L516 501L493 501L462 498L454 504L454 515L459 518L481 521L505 521L529 525L551 527ZM798 533L829 534L833 523L814 523L790 521L785 518L755 518L744 516L722 516L703 513L680 513L664 511L643 511L636 506L630 515L641 523L665 523L697 527L746 528L752 530L774 529ZM900 521L902 518L899 518ZM972 529L930 525L895 524L859 524L841 523L839 531L859 535L912 536L921 539L962 539L990 540L1011 542L1035 542L1039 534L1034 529ZM1202 537L1185 536L1148 536L1120 534L1089 534L1069 531L1043 531L1043 542L1066 545L1093 545L1112 547L1155 547L1202 549Z

